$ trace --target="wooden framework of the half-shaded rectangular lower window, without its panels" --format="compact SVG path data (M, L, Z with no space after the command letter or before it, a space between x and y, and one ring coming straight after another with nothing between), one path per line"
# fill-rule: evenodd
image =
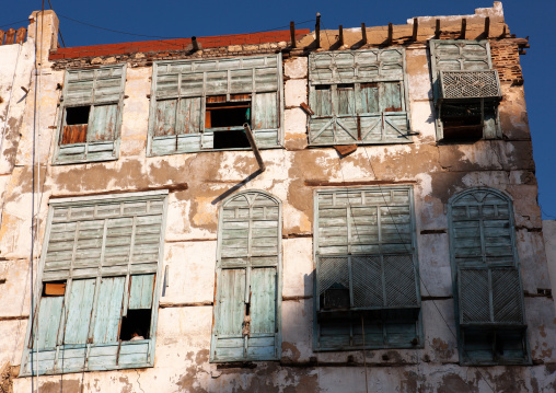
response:
M384 193L391 193L391 196L393 195L392 193L396 192L396 190L403 190L403 192L407 192L408 193L408 205L407 207L409 208L409 231L412 233L412 240L410 240L410 250L407 250L408 253L403 253L403 254L390 254L390 253L383 253L383 252L379 252L379 253L372 253L372 256L374 257L380 257L381 261L384 256L395 256L395 255L406 255L406 254L410 254L412 255L412 258L413 258L413 268L414 268L414 274L415 274L415 285L416 285L416 301L417 301L417 304L415 307L367 307L367 308L357 308L357 307L350 307L348 310L340 310L340 311L332 311L329 313L323 313L323 312L318 312L318 302L320 302L320 291L317 289L318 287L318 284L317 284L317 279L318 279L318 268L320 268L320 227L318 227L318 222L320 222L320 219L318 219L318 196L321 194L331 194L331 193L334 193L334 195L336 195L335 193L350 193L350 192L379 192L381 193L382 195L384 195ZM349 197L348 197L349 199ZM419 279L419 264L418 264L418 252L417 252L417 231L416 231L416 220L415 220L415 200L414 200L414 193L413 193L413 187L412 186L385 186L385 187L381 187L381 186L378 186L378 187L349 187L349 188L320 188L320 189L315 189L314 190L314 218L313 218L313 222L314 222L314 234L313 234L313 242L314 242L314 246L313 246L313 252L314 252L314 255L313 255L313 268L314 268L314 271L315 271L315 275L314 275L314 280L313 280L313 350L315 351L338 351L338 350L359 350L359 349L362 349L363 348L363 345L362 343L361 344L357 344L356 343L356 338L355 338L355 332L356 330L359 330L361 327L361 324L363 324L363 327L364 327L364 320L372 320L374 321L375 323L378 323L380 326L381 326L381 330L382 330L382 336L383 336L383 340L382 343L366 343L364 344L364 349L387 349L387 348L397 348L397 349L401 349L401 348L410 348L410 349L417 349L417 348L424 348L424 332L422 332L422 315L421 315L421 303L420 303L420 279ZM364 205L367 206L367 205ZM380 210L380 207L382 206L386 206L389 208L389 215L390 215L390 206L389 204L386 204L385 201L384 203L379 203L379 204L375 204L373 206L377 206L377 208ZM401 206L401 205L396 205L397 206ZM352 206L350 205L349 208L347 209L348 211L348 216L351 216L350 213L350 210L351 210ZM349 219L348 219L348 222L349 222ZM351 226L348 226L348 227L351 227ZM377 228L380 228L380 224L379 222L377 222ZM348 233L349 233L349 228L347 229ZM380 229L379 229L379 232L380 232ZM348 234L349 236L349 234ZM379 241L381 242L381 241ZM366 256L371 256L371 254L369 253L364 253L364 252L358 252L356 251L355 248L351 250L350 247L350 242L348 242L348 253L340 253L341 255L337 254L337 256L347 256L349 258L352 258L352 257L357 257L357 256L360 256L360 257L366 257ZM367 246L368 244L366 244L364 246ZM382 248L382 245L380 246ZM323 254L324 255L324 254ZM331 257L334 257L335 254L326 254L325 256L331 256ZM383 262L381 262L381 264L383 264ZM382 273L384 275L384 271ZM349 275L351 277L351 274ZM351 278L350 278L351 280ZM383 289L385 288L384 287L384 276L382 276L382 280L383 280ZM351 284L350 284L351 286ZM354 296L351 294L351 289L350 289L350 298L351 298L351 302L354 301ZM409 314L413 314L412 316L408 316L408 320L412 320L412 323L415 323L415 335L416 335L416 338L417 338L417 343L416 342L413 342L413 343L395 343L395 342L390 342L389 340L389 337L387 337L387 328L389 326L393 323L393 320L391 320L392 316L389 316L389 314L392 314L392 313L398 313L398 312L406 312L407 315ZM406 316L407 316L406 315ZM320 337L321 337L321 323L320 323L320 319L327 319L328 321L348 321L346 322L347 325L349 325L349 331L350 331L350 344L349 345L338 345L338 344L325 344L323 345L321 342L320 342ZM360 321L361 320L361 321ZM368 321L369 322L369 321ZM408 325L409 323L406 322L406 325ZM366 333L367 335L367 333Z

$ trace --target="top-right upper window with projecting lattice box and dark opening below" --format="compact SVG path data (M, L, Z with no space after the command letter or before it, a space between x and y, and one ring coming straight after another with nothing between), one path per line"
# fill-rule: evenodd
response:
M438 140L501 138L498 72L487 41L431 39Z

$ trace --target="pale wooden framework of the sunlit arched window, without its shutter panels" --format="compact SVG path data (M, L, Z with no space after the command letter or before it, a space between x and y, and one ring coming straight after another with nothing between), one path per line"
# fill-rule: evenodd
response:
M277 224L277 235L276 235L277 236L277 255L276 255L277 262L276 262L276 264L273 264L269 262L266 262L266 263L260 263L260 262L254 263L253 262L256 258L260 258L260 256L257 256L257 253L255 253L253 251L253 247L256 244L253 242L254 241L254 236L253 236L254 231L253 231L253 226L251 226L251 224L248 226L248 235L247 235L247 244L248 244L247 245L247 250L248 250L247 255L231 257L231 259L230 259L230 256L223 255L223 250L224 250L224 246L223 246L224 208L227 207L227 205L229 203L233 203L234 200L238 200L238 198L241 197L242 195L250 196L253 194L255 194L257 196L262 196L263 198L270 199L275 204L274 206L276 206L278 209L278 212L277 212L278 217L276 219L276 224ZM255 196L255 198L256 198L256 196ZM250 211L253 209L255 209L255 208L250 207ZM266 217L266 215L267 215L266 209L267 208L265 207L264 209L265 209L264 217ZM254 218L250 219L247 217L243 217L239 212L236 212L235 215L236 215L238 220L244 219L246 222L250 222L251 220L257 220ZM258 220L260 220L260 218L258 218ZM265 219L265 220L267 220L267 219ZM212 310L213 317L212 317L212 333L211 333L211 345L210 345L210 362L263 361L263 360L279 360L280 359L280 357L281 357L281 301L282 301L282 294L281 294L282 293L282 290L281 290L281 287L282 287L281 234L282 234L282 204L279 198L277 198L276 196L274 196L270 193L267 193L267 192L260 190L260 189L248 189L248 190L238 193L238 194L230 196L224 201L222 201L222 204L220 205L219 220L218 220L215 308ZM224 262L223 261L224 258L230 259L230 262ZM234 259L243 259L243 261L238 262ZM274 354L271 356L260 356L260 355L257 355L257 352L255 351L254 354L250 355L248 340L253 339L253 338L255 338L255 339L258 339L258 338L253 337L252 334L247 334L247 335L244 334L244 332L245 332L244 331L245 320L244 320L244 323L242 324L242 330L243 330L242 331L242 339L244 340L243 355L242 356L233 356L233 357L217 355L218 340L219 340L219 338L222 338L218 334L218 326L220 325L219 319L221 317L220 308L222 304L222 290L223 290L222 285L220 284L222 281L222 277L223 277L222 271L224 269L245 270L245 274L244 274L245 275L245 282L246 282L245 286L247 287L247 282L251 282L251 277L253 276L254 269L257 269L257 268L265 269L265 268L273 268L273 267L276 268ZM251 303L252 294L254 292L251 286L248 286L248 288L251 288L251 290L248 291L248 294L246 294L246 297L248 297L248 298L245 300L240 300L240 302L244 301L245 304ZM247 291L245 293L247 293ZM251 317L250 317L250 323L251 323ZM264 334L263 334L263 336L264 336ZM270 336L268 336L268 337L270 337ZM223 337L223 338L225 339L228 337ZM231 350L231 348L224 348L224 349Z

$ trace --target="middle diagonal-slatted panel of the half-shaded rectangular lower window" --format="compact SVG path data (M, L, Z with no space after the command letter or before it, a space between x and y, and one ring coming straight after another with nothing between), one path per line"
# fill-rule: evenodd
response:
M354 277L354 307L382 307L382 268L379 256L358 256L351 258Z

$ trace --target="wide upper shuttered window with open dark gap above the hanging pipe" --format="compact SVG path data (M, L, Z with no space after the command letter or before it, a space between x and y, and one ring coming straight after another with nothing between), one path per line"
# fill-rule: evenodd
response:
M248 149L281 143L281 55L153 66L148 154Z

